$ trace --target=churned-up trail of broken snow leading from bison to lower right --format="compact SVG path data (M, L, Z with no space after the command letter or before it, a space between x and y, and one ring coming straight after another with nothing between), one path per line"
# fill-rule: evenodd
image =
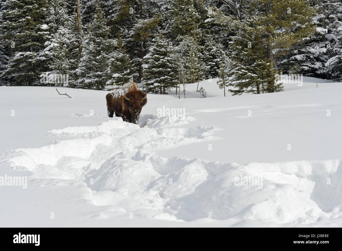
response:
M142 115L139 126L114 117L97 126L54 129L48 135L61 140L6 152L1 162L31 171L31 178L84 181L95 205L147 218L309 224L342 215L339 160L244 166L155 154L216 139L212 133L218 128L182 127L190 121L191 116ZM237 177L262 183L236 185Z

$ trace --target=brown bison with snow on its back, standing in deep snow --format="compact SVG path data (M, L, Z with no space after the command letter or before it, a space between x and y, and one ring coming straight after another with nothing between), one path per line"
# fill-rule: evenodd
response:
M106 95L108 116L122 117L123 121L137 124L141 109L147 103L147 94L129 82Z

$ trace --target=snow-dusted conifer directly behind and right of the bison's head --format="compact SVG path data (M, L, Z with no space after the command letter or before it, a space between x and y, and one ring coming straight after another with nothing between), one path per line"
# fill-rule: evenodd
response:
M142 84L146 92L167 94L178 83L173 62L173 47L156 33L149 53L144 57Z

